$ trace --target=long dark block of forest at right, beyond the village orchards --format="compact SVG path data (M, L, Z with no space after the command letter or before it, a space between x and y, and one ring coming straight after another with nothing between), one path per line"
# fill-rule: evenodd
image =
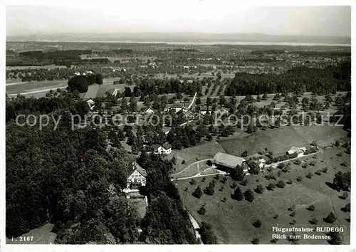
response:
M349 91L350 63L340 63L337 67L323 69L297 67L281 75L236 73L225 94L259 95L263 93L300 93L319 94Z

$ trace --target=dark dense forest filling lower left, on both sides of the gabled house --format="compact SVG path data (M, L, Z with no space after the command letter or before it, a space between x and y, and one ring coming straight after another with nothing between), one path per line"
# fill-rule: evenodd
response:
M77 112L85 114L88 106L71 93L6 100L6 236L51 222L56 243L140 243L139 228L149 243L196 243L189 215L169 179L172 162L142 152L139 162L147 170L142 193L150 206L141 219L121 193L134 158L120 146L107 152L103 129L71 130L71 115ZM62 119L56 130L53 122L39 130L16 125L20 113Z

